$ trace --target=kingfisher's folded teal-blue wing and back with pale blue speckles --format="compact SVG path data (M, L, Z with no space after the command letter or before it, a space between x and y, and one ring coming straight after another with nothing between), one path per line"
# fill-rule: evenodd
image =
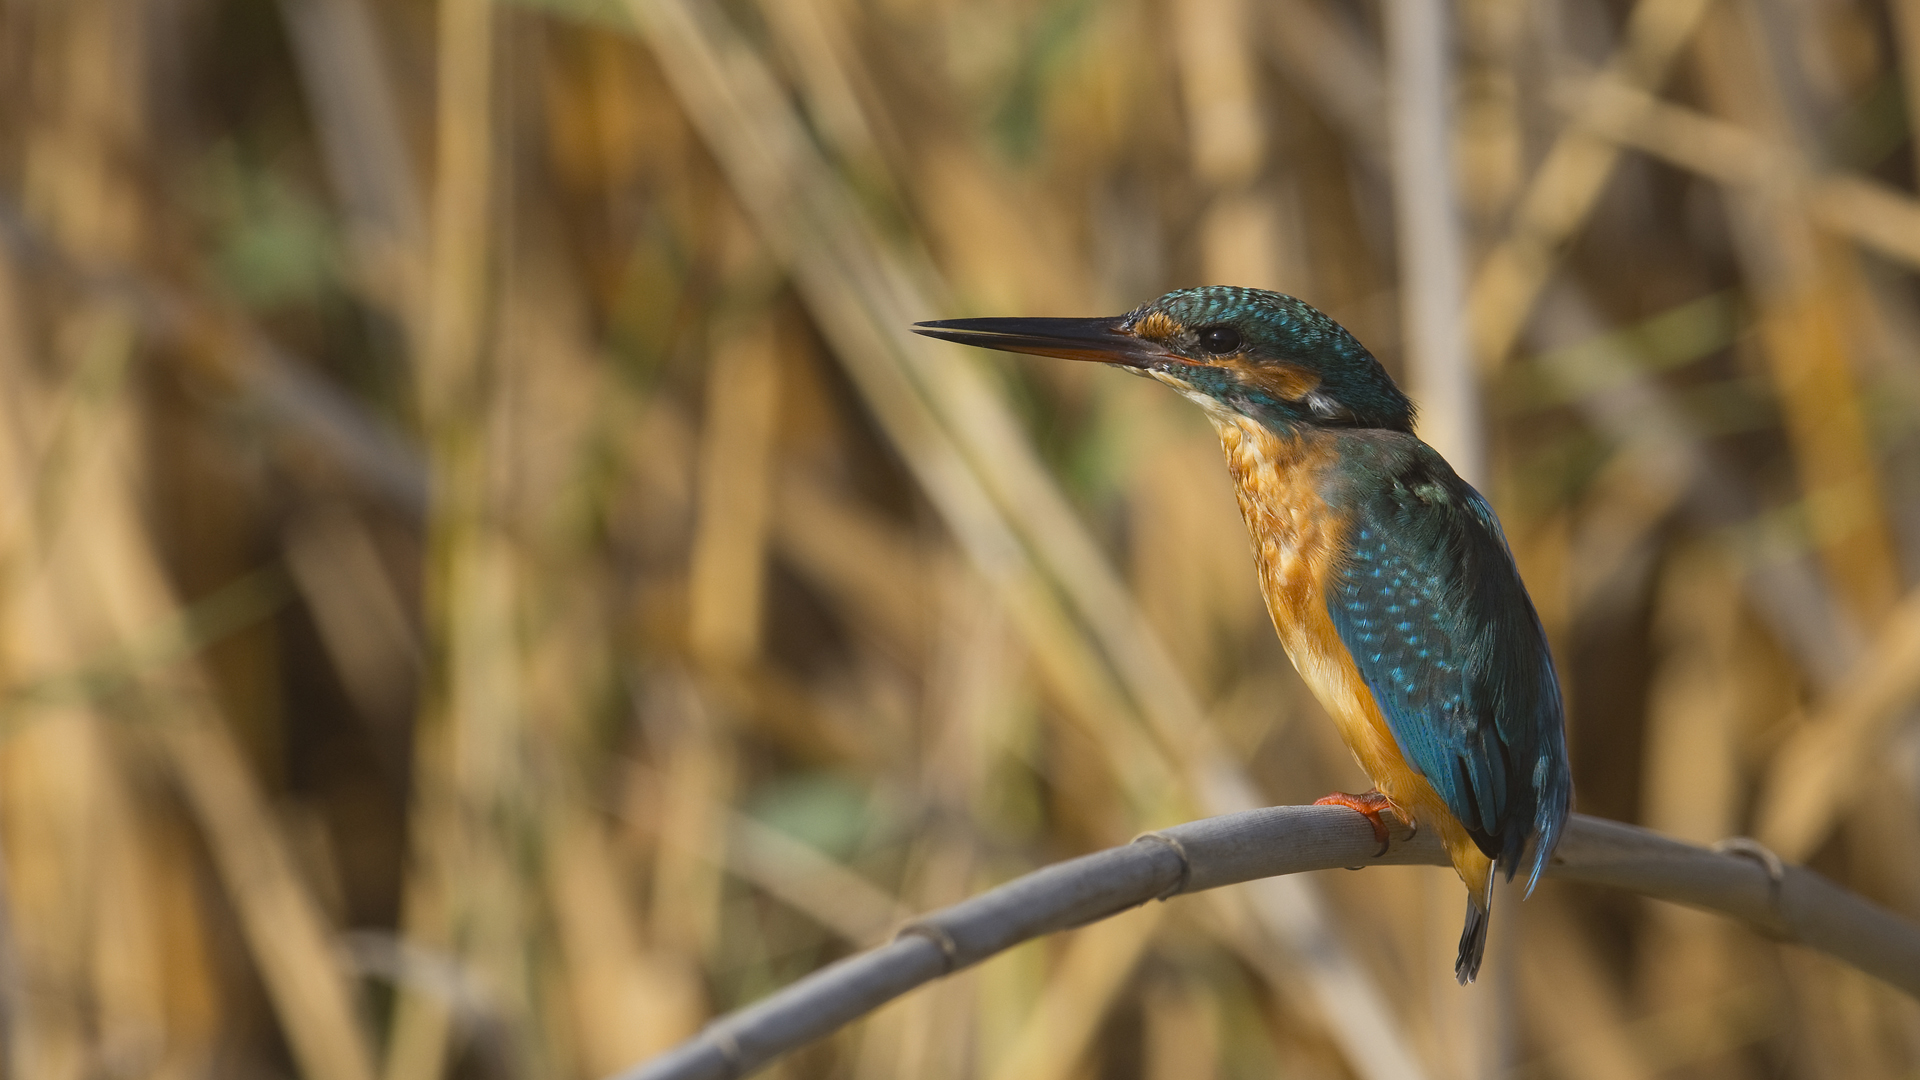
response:
M1494 511L1409 434L1342 434L1327 607L1407 763L1532 892L1572 799L1546 632Z

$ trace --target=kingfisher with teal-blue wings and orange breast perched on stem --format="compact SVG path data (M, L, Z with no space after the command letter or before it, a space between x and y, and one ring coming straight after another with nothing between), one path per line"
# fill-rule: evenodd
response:
M1473 982L1496 876L1524 867L1530 896L1567 824L1565 707L1500 519L1413 432L1413 402L1380 361L1317 307L1238 286L1116 317L914 332L1108 363L1206 411L1281 644L1373 780L1319 803L1365 815L1380 853L1386 811L1440 834L1467 886L1453 974Z

